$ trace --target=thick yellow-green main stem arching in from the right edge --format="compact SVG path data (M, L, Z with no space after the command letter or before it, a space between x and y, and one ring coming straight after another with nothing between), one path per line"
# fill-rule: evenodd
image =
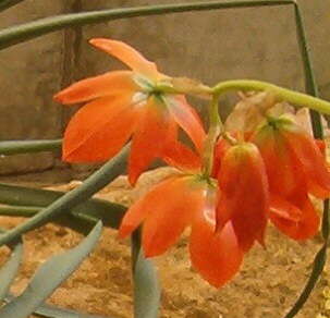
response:
M232 90L269 90L279 99L298 107L307 107L325 114L330 114L330 102L303 93L293 91L267 82L252 80L227 81L217 84L213 94L222 95Z

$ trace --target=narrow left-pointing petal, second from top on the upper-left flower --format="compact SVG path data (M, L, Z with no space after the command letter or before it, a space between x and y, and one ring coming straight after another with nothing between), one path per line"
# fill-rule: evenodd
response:
M114 71L72 84L53 98L61 103L76 103L103 96L130 94L137 89L131 71Z

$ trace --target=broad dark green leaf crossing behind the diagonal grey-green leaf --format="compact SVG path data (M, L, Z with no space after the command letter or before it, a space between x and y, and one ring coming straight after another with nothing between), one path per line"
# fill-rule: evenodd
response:
M0 206L0 215L30 218L64 194L58 191L0 183L0 203L10 205ZM118 229L125 210L126 208L122 205L93 198L72 208L70 215L65 213L52 221L83 233L85 233L85 228L88 224L86 222L81 224L77 220L87 221L88 223L102 220L105 227Z

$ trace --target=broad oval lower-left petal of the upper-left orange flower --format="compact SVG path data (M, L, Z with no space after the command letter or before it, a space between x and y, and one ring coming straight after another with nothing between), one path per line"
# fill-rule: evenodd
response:
M96 162L113 157L134 130L131 100L132 96L103 97L81 108L64 133L63 160Z

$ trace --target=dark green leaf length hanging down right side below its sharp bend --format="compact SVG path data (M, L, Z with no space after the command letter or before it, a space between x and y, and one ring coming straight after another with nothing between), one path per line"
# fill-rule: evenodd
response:
M295 22L296 22L296 30L297 30L297 39L300 44L301 54L304 64L304 73L305 73L305 85L306 91L315 97L318 97L318 89L315 82L311 59L309 53L309 48L305 35L304 22L298 8L298 4L294 4L295 12ZM310 111L310 120L313 124L313 132L316 138L323 138L323 131L321 124L320 114L316 111ZM293 307L289 310L284 318L293 318L305 305L308 299L311 291L314 290L320 274L323 271L326 260L327 260L327 246L329 242L329 199L323 203L323 217L322 217L322 235L323 235L323 244L320 250L317 253L314 259L314 266L311 273L307 280L307 283L298 296L297 301L293 305Z

